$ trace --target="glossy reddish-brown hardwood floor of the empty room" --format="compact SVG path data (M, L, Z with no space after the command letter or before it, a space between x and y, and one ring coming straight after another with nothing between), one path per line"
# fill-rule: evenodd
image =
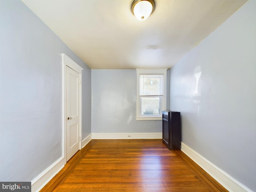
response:
M162 140L91 140L41 192L227 192Z

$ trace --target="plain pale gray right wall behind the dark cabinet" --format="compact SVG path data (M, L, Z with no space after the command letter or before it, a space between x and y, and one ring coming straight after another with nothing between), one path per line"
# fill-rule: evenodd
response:
M171 69L170 109L184 144L256 191L256 0Z

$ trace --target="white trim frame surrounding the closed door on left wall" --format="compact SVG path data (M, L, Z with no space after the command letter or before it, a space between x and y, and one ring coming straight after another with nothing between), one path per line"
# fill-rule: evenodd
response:
M80 90L80 110L78 111L79 116L79 149L81 149L82 141L82 70L83 68L69 58L66 54L62 53L62 156L65 162L67 162L67 138L66 138L66 66L79 74L79 90Z

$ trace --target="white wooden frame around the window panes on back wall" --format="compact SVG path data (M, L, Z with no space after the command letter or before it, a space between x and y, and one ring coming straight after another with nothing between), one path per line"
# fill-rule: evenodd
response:
M163 98L162 98L162 110L166 110L166 76L167 69L136 69L137 72L137 101L136 101L136 120L162 120L161 116L141 116L140 115L140 74L147 75L163 75ZM162 114L162 112L160 112Z

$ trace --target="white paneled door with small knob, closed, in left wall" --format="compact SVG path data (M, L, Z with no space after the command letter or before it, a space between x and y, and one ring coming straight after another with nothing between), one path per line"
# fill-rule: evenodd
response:
M67 161L80 148L80 74L66 66L66 150Z

